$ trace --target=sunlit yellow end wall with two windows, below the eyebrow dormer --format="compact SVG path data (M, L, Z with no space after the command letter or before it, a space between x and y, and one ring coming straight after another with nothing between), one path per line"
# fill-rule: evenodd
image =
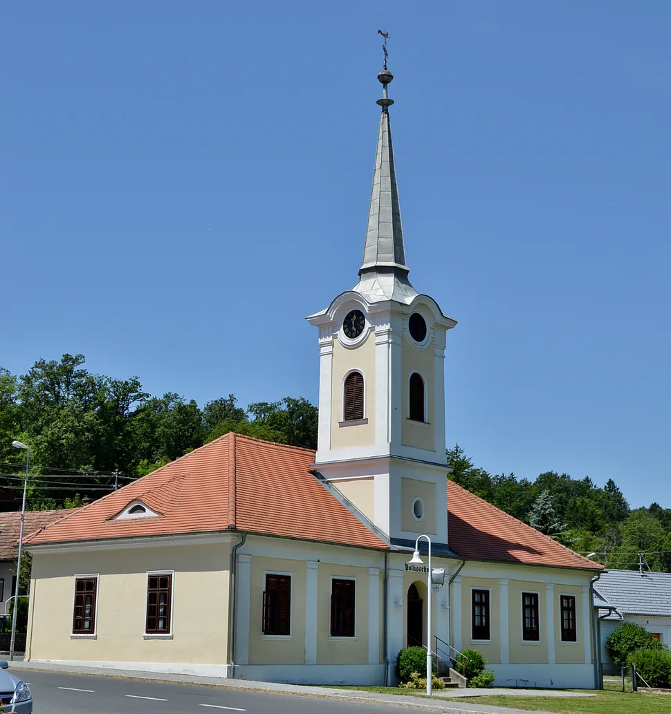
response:
M229 558L228 544L34 553L26 658L225 664ZM175 570L172 639L144 638L148 570ZM93 573L96 638L72 638L74 575Z

